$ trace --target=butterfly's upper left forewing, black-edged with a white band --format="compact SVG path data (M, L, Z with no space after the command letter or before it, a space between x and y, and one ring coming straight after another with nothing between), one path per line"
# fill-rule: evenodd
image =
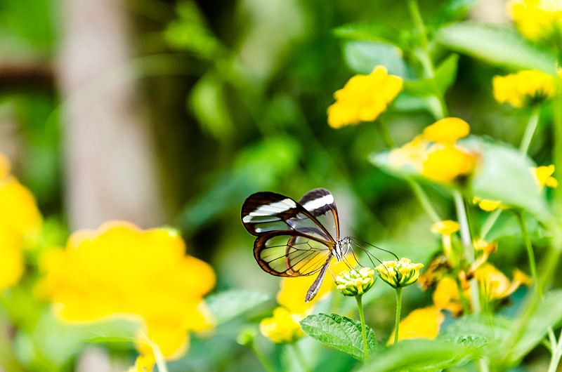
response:
M334 238L301 204L274 192L257 192L244 201L242 223L252 235L298 231L334 243Z

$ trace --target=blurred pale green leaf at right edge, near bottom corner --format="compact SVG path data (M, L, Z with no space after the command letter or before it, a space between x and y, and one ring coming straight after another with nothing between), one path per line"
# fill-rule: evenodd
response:
M517 320L516 320L517 321ZM562 321L562 290L544 294L542 302L526 324L523 333L512 348L510 361L521 360L547 336L549 327L556 328ZM509 340L507 340L509 343ZM508 361L509 362L509 361Z

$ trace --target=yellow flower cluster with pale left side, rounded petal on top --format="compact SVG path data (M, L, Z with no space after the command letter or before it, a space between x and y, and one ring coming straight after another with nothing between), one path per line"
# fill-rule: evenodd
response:
M449 117L436 121L411 142L391 150L392 168L410 167L416 173L436 182L451 182L472 172L476 157L457 144L469 134L466 121Z

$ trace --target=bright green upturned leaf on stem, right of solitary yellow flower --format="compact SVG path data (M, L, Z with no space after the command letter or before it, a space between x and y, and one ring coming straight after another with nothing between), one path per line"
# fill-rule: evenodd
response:
M452 54L436 69L432 79L404 81L404 91L417 97L443 96L457 77L458 54Z

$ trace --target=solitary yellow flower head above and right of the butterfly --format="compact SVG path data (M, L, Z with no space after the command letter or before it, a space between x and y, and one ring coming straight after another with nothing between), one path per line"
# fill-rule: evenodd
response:
M355 75L334 93L336 102L328 107L328 124L341 128L361 121L373 121L402 91L403 80L386 73L386 67L374 67L369 75Z

